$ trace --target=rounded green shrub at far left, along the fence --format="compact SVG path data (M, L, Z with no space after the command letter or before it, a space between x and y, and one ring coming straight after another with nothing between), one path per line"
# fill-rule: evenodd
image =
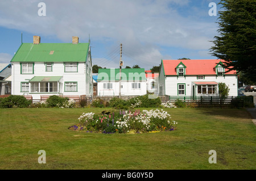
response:
M0 100L0 108L25 108L30 106L32 100L27 100L22 95L10 95Z

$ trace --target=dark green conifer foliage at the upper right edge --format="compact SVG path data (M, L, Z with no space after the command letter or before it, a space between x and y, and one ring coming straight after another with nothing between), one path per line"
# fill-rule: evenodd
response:
M256 81L256 0L221 0L218 36L211 54L224 62L226 70L237 70ZM226 71L226 72L228 72Z

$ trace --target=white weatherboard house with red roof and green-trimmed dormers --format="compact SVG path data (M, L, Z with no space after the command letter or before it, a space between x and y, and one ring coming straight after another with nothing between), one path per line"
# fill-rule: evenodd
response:
M225 73L224 60L162 60L159 73L159 95L218 95L218 83L229 87L237 96L236 71Z

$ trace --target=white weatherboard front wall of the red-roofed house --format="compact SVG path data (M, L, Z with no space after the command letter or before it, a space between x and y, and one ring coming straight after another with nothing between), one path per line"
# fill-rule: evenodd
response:
M165 82L165 84L164 84ZM205 79L197 79L196 75L186 75L185 77L178 77L176 75L159 76L159 86L165 87L165 95L178 95L177 85L179 83L185 84L185 95L193 95L193 82L217 82L217 83L226 83L229 87L229 96L237 96L237 76L236 75L225 75L225 77L216 77L216 75L205 75ZM197 90L197 87L195 87ZM197 92L197 91L196 91ZM163 94L164 95L164 94ZM197 95L197 94L196 94ZM205 95L205 94L200 94Z

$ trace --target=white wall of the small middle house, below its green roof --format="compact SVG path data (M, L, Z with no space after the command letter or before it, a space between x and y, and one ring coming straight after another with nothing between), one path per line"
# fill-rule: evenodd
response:
M97 90L99 96L107 96L107 95L119 95L119 82L109 82L113 83L112 89L104 89L104 83L108 82L98 82L97 84ZM131 84L133 82L121 82L122 89L121 89L121 95L145 95L147 94L147 85L146 81L137 82L141 83L141 89L132 89Z

